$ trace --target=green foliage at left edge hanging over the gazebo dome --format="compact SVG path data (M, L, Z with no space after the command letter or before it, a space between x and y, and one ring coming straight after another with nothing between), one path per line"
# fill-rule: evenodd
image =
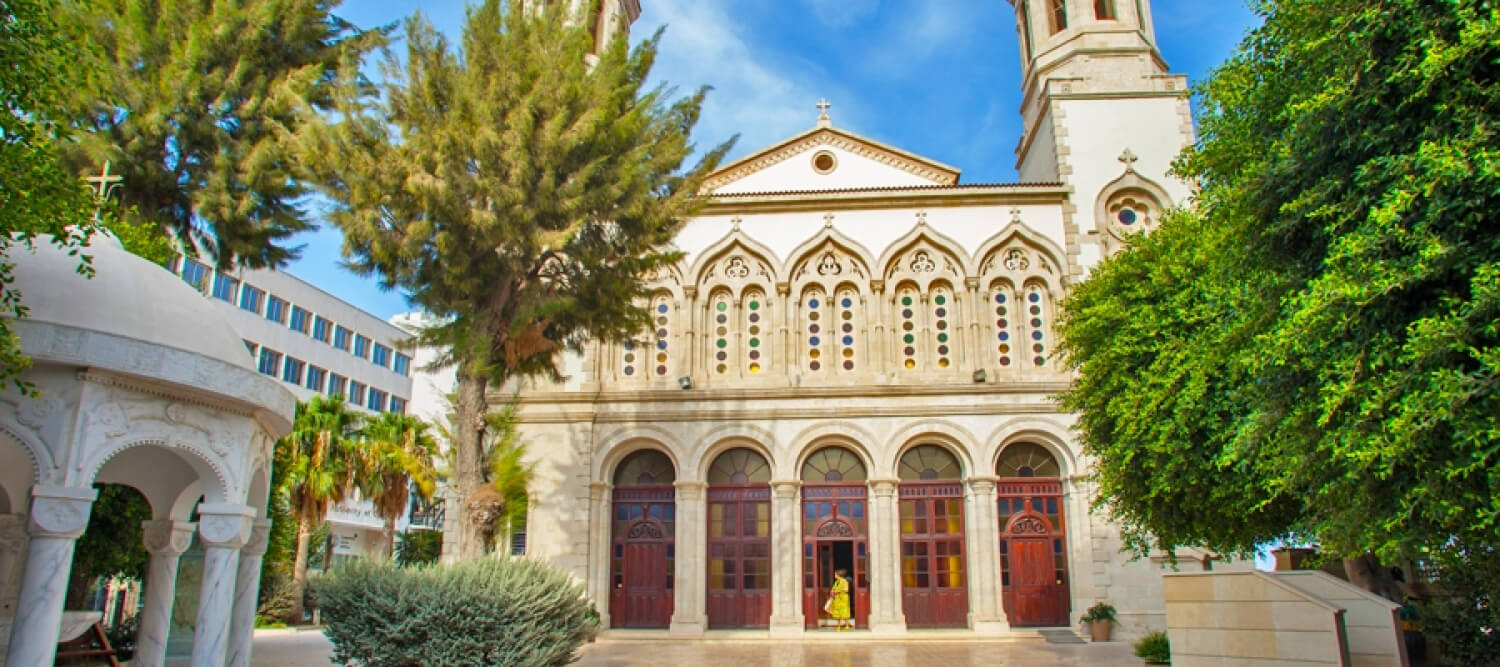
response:
M70 132L68 94L88 90L82 48L68 40L50 13L50 3L0 0L0 390L34 388L21 381L30 360L10 330L10 318L26 316L21 292L12 286L14 246L30 247L42 237L80 252L90 234L93 199L62 162L60 145ZM87 271L86 261L80 265Z

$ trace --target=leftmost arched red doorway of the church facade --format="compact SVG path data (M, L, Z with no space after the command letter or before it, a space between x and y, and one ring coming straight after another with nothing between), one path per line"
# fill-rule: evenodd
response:
M672 460L657 450L630 454L615 471L609 562L609 624L666 628L672 619L676 498Z

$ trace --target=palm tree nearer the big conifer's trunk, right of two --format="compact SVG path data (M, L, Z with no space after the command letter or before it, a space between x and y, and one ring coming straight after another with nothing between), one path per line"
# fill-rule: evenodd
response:
M428 424L416 417L384 412L360 429L364 439L358 489L375 516L386 520L384 555L396 547L396 522L406 511L411 490L430 501L438 487L438 471L432 459L438 442L428 433Z

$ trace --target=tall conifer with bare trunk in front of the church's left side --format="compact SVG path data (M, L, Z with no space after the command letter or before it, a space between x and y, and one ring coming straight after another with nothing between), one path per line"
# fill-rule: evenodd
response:
M642 276L699 210L729 144L680 171L706 90L645 88L657 36L594 37L570 4L471 6L454 49L420 15L386 60L378 102L348 87L338 123L308 132L304 163L334 202L350 265L438 318L422 345L456 366L460 558L486 549L484 393L556 378L560 354L648 319ZM472 508L472 510L471 510Z

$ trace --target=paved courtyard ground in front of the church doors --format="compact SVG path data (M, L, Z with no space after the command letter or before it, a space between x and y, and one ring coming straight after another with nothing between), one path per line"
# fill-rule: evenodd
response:
M255 633L255 667L327 667L328 640L321 633ZM818 667L904 667L904 666L1138 666L1124 642L1100 645L1048 645L1040 639L1005 642L946 640L868 640L858 636L837 640L813 637L784 640L646 640L606 639L584 648L584 667L624 666L818 666Z

